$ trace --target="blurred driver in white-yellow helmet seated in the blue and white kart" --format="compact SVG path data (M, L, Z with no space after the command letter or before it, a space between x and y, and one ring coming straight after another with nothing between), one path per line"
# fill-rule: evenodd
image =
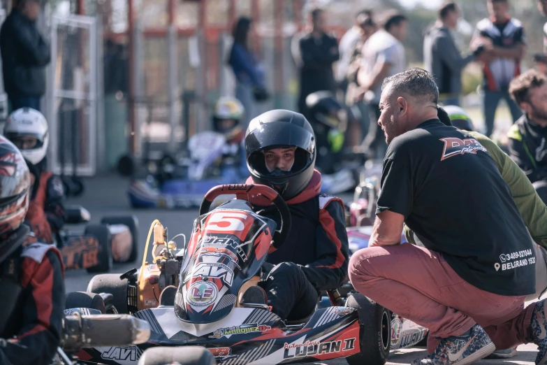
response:
M240 122L245 115L245 107L238 99L231 96L222 96L214 105L213 129L226 138L226 151L222 157L224 164L240 166L241 176L247 176L247 164L245 163L245 151L243 140L245 130Z

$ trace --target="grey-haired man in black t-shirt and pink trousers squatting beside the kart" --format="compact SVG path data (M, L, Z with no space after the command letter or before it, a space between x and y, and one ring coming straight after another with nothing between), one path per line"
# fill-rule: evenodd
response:
M351 257L351 282L440 338L414 364L471 364L532 341L544 364L544 301L524 308L536 291L534 241L486 148L439 121L438 97L421 69L384 80L389 148L370 247ZM400 243L403 224L425 248Z

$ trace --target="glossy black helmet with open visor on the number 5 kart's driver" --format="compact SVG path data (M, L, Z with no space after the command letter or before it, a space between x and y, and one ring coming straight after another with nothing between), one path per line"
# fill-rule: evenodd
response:
M264 150L296 147L289 171L268 171ZM300 194L312 180L315 166L315 135L304 115L276 109L251 120L245 133L247 168L254 183L277 189L285 200Z

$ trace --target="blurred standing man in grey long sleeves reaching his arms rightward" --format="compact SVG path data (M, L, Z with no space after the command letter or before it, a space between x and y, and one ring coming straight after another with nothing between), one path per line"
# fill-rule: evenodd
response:
M425 31L423 40L425 70L435 77L435 83L439 87L439 101L443 101L445 105L460 105L462 70L469 62L481 59L485 50L482 46L469 55L460 54L451 35L451 30L458 25L459 17L460 11L456 3L444 3L439 8L437 22Z

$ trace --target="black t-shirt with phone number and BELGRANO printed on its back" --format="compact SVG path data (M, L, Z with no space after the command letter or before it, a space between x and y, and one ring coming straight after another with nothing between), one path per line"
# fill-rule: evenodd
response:
M533 241L483 146L428 120L390 143L377 214L391 210L465 281L506 296L535 292Z

